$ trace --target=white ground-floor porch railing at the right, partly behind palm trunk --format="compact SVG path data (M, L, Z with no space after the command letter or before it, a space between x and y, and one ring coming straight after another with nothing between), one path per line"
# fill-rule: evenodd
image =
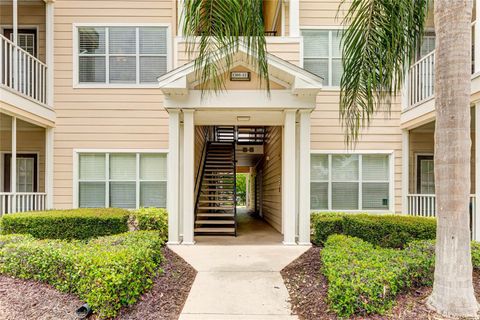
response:
M470 195L470 226L472 234L475 233L476 219L475 207L477 201L475 195ZM409 194L407 195L407 214L421 217L436 217L436 201L434 194Z

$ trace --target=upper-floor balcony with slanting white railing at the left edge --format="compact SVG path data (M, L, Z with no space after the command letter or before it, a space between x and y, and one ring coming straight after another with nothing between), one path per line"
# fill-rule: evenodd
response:
M0 0L0 109L53 123L53 1Z

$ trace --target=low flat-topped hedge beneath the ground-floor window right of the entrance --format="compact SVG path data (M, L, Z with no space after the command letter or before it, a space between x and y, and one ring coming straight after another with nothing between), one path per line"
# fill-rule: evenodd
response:
M412 240L435 239L434 218L404 215L316 213L312 242L323 244L331 234L361 238L386 248L403 248Z

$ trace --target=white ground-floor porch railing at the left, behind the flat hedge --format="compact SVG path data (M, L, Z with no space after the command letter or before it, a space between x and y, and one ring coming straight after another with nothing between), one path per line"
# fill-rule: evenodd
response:
M0 192L0 216L7 213L45 210L47 194L43 192Z

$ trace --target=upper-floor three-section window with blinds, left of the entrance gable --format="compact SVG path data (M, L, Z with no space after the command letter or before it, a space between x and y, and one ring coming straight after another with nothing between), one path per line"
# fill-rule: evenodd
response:
M167 72L167 27L79 27L80 84L151 84Z

